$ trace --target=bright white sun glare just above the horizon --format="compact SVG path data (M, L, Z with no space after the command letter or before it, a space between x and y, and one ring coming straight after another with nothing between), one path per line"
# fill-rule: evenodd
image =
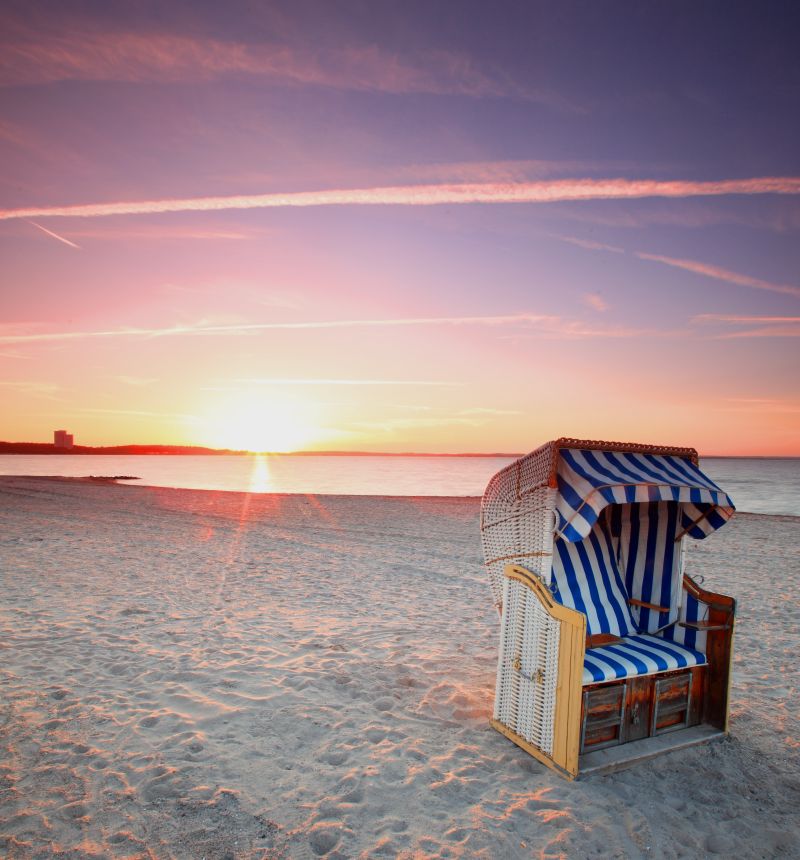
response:
M300 451L320 436L311 404L271 397L263 391L237 394L209 407L196 430L205 444L237 451Z

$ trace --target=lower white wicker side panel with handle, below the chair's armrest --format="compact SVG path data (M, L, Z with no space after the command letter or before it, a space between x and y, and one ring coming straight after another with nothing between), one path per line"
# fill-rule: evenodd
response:
M553 753L560 627L530 588L505 580L494 717L548 756Z

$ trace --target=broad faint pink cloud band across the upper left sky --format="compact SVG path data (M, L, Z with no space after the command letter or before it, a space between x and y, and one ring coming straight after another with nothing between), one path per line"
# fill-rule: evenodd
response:
M56 33L17 28L0 52L0 85L64 80L162 83L252 76L275 83L385 93L513 97L561 103L452 51L409 55L374 44L233 42L170 33ZM566 103L565 107L568 107Z

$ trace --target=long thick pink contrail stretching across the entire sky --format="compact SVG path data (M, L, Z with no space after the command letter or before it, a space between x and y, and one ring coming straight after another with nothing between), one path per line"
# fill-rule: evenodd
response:
M469 203L554 203L565 200L632 200L644 197L703 197L729 194L800 194L800 178L760 177L713 182L650 179L556 179L449 185L296 191L285 194L191 197L88 203L0 210L13 218L102 218L162 212L216 212L225 209L274 209L314 206L438 206ZM670 258L664 258L665 262Z

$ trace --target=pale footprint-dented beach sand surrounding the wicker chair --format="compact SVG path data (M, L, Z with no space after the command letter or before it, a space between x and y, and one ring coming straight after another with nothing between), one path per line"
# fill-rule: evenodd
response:
M729 738L568 782L490 729L476 499L0 479L0 855L798 856L800 520L740 601Z

